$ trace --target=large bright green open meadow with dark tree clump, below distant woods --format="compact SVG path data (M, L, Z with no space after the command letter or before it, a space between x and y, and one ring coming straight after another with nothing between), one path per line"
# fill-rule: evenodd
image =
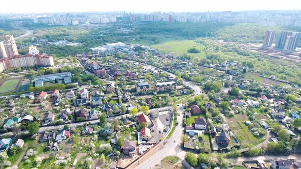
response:
M150 45L150 47L174 55L181 55L186 53L197 58L205 57L205 52L203 51L205 46L199 43L195 43L193 40L172 40L155 45ZM192 47L199 48L202 51L200 53L188 53L187 50Z

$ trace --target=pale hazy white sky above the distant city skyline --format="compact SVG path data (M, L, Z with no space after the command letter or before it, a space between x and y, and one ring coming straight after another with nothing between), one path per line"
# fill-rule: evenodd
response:
M300 10L301 0L0 0L4 12Z

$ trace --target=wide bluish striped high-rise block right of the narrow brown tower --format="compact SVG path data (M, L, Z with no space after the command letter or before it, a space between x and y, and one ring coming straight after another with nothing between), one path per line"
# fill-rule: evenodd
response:
M301 33L281 31L278 33L275 48L283 50L295 50L301 39Z

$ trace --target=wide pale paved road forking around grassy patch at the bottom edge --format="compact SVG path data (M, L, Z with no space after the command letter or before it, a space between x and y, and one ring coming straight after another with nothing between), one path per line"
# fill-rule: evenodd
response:
M156 151L150 151L148 154L139 159L139 161L143 161L143 163L136 162L129 168L154 168L155 165L160 163L163 158L171 155L177 155L183 160L183 164L186 165L187 168L191 167L184 159L186 152L184 152L181 148L181 136L184 130L182 124L184 104L180 104L178 108L180 112L180 116L178 116L179 125L175 127L175 130L172 133L171 137L165 139L163 143L161 143L163 145L159 145L158 147L154 148L154 150L156 149Z

